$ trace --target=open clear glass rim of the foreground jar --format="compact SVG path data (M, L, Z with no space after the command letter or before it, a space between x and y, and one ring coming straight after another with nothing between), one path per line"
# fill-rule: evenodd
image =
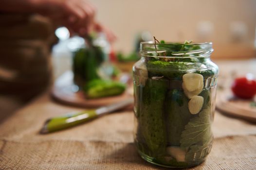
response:
M213 52L212 42L205 43L140 43L140 54L145 57L209 57Z

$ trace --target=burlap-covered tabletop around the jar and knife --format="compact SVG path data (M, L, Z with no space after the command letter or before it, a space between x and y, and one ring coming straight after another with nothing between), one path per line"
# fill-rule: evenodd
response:
M231 72L256 75L256 59L216 63L220 81ZM0 124L0 170L164 169L147 163L136 152L132 111L115 112L52 134L38 133L46 119L80 110L54 102L49 92L19 109ZM216 111L213 133L212 152L203 164L191 169L256 169L255 124Z

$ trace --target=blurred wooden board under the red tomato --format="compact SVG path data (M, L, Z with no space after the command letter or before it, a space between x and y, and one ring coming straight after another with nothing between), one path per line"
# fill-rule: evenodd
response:
M256 100L243 100L234 97L231 93L219 91L216 108L225 115L256 123L256 106L253 106L253 101Z

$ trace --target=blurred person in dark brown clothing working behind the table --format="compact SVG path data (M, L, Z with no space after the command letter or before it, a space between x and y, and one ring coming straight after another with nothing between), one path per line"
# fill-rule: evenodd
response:
M95 7L88 0L0 1L0 94L31 99L44 90L51 77L50 52L58 26L71 34L103 31Z

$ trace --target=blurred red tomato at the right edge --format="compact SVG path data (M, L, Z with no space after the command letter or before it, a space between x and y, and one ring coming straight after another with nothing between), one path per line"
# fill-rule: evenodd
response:
M232 85L233 93L242 99L251 99L256 94L256 81L240 77L235 79Z

